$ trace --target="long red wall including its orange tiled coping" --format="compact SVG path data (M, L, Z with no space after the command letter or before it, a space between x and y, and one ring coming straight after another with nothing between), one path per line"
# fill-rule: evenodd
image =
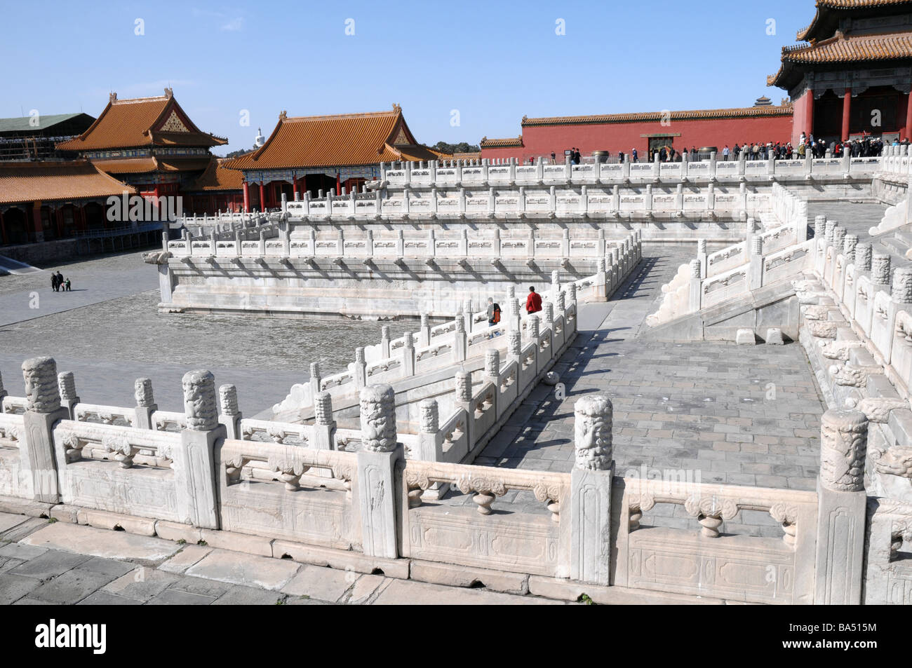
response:
M516 158L564 160L564 151L575 147L583 155L608 151L612 156L623 151L630 155L637 149L639 159L662 147L677 151L685 148L715 147L727 144L762 141L788 141L792 135L792 105L788 100L774 106L698 109L686 111L651 111L633 114L600 114L594 116L560 116L527 118L523 116L523 133L509 139L482 138L482 158Z

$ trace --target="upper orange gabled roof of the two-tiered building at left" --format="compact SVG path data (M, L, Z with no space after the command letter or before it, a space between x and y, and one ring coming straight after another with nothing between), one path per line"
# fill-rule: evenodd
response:
M118 99L108 106L76 139L57 144L60 150L125 149L137 146L221 146L227 139L204 133L193 125L181 105L166 89L159 98Z

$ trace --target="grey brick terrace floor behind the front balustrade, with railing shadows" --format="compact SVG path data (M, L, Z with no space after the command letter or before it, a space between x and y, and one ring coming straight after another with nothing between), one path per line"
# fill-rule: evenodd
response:
M605 392L614 403L618 475L814 489L825 406L800 344L637 339L646 315L658 308L661 285L688 259L689 249L644 248L643 262L609 302L604 321L594 332L581 326L575 345L555 365L566 398L558 400L554 388L540 385L476 463L570 471L574 403ZM581 325L588 309L583 306ZM470 496L450 502L471 503ZM528 492L511 492L501 502L545 512ZM694 526L683 508L664 504L643 521ZM723 530L782 535L769 515L751 511Z

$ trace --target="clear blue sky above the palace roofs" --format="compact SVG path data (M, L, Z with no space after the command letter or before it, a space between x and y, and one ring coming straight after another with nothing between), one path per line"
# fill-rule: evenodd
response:
M419 141L434 144L516 137L523 115L778 103L785 93L766 75L814 16L813 0L36 6L0 0L0 118L33 108L98 116L111 90L161 95L170 83L202 130L230 139L227 150L249 148L258 126L268 136L283 109L396 102Z

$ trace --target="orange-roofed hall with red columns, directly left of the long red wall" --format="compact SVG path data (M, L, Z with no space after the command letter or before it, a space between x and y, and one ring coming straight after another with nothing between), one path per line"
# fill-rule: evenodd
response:
M380 178L380 163L450 158L418 143L392 111L289 118L285 111L259 149L225 164L244 173L247 211L268 211L309 191L351 191Z

